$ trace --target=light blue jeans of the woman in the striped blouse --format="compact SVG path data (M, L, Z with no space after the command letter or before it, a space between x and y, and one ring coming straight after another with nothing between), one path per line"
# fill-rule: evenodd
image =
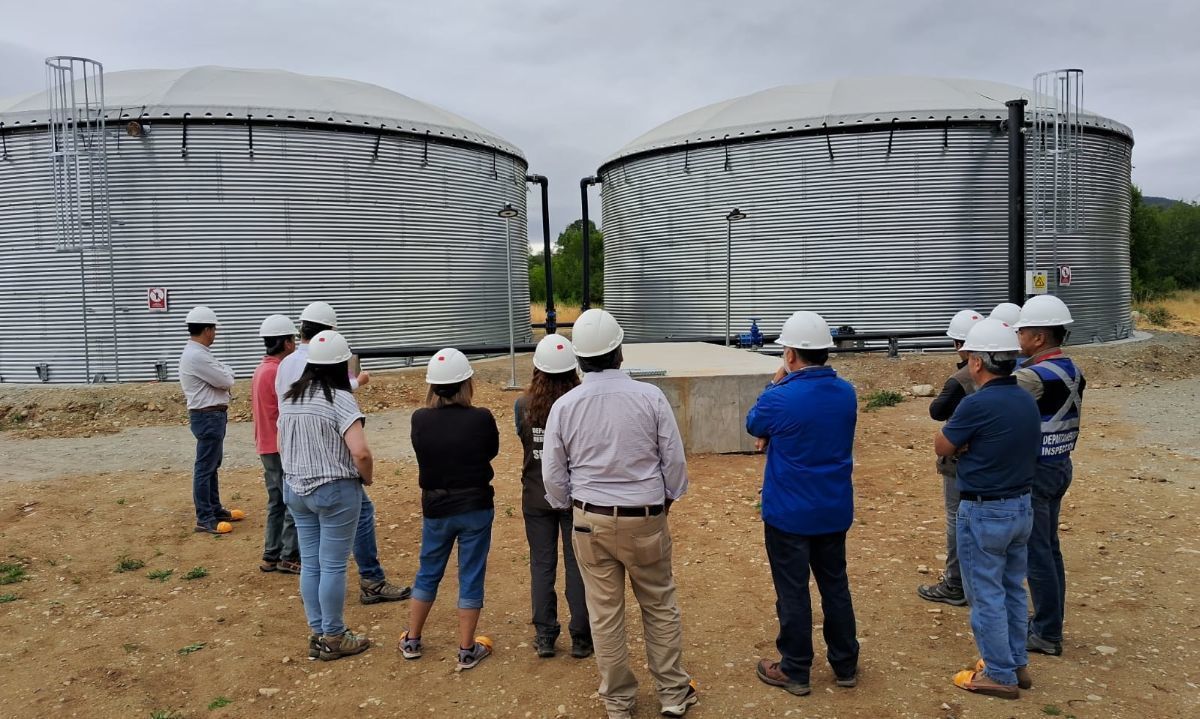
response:
M346 565L362 507L362 483L337 479L300 496L284 485L300 540L300 597L313 634L346 631Z

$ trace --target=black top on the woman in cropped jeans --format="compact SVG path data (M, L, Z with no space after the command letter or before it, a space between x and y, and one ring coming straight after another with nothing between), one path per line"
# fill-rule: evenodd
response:
M422 408L412 424L425 516L492 509L492 460L500 451L492 413L484 407Z

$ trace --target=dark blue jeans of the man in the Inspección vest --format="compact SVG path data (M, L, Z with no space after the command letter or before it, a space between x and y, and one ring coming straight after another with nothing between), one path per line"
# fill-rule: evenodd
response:
M1038 462L1033 475L1033 533L1030 534L1030 631L1049 642L1062 641L1067 609L1067 573L1058 547L1058 510L1070 487L1070 460Z

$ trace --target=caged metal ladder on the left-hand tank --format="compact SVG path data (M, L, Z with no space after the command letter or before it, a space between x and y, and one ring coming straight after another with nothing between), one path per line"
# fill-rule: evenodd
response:
M54 191L55 250L79 254L84 372L90 383L107 382L109 371L112 378L120 382L104 66L88 58L47 58L46 94L50 108L48 157ZM103 301L104 294L108 294L108 302ZM104 314L108 316L108 336L94 336L97 328L103 328ZM94 359L97 360L95 372ZM48 369L46 372L48 377Z

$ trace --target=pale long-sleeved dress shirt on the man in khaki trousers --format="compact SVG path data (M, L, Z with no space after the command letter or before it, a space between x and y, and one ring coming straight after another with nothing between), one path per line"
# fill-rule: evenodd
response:
M619 370L588 372L546 420L541 454L546 501L646 507L688 491L688 466L662 390Z

